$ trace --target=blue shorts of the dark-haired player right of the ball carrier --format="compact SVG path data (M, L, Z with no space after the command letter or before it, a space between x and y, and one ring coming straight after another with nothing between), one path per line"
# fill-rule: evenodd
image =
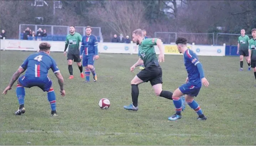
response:
M191 97L196 97L201 89L201 86L194 85L193 83L186 83L179 87L183 94L189 95Z

